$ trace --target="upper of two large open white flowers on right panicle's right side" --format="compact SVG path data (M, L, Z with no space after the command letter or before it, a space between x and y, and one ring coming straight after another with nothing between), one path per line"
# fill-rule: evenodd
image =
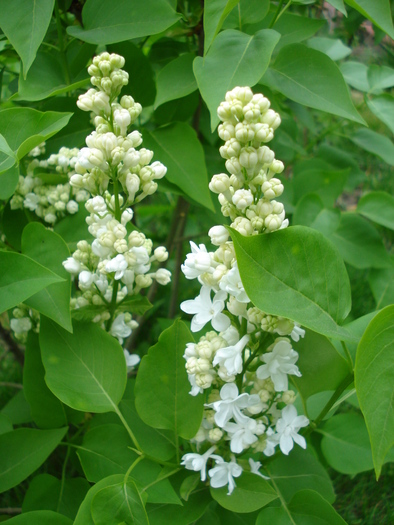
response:
M298 359L298 353L293 350L287 339L279 339L274 344L272 352L263 354L260 359L266 364L259 366L256 375L259 379L272 379L275 390L282 392L288 390L288 374L301 376L295 362Z

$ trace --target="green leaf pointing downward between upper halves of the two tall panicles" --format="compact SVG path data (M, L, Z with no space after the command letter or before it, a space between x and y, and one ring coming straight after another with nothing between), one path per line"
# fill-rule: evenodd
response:
M144 132L144 145L154 150L167 166L166 178L187 196L213 211L208 189L204 150L196 132L184 122L175 122L152 132Z

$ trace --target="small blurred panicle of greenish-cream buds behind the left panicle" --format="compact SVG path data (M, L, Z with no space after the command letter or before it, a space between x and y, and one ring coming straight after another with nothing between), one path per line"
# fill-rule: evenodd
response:
M38 157L45 152L45 144L34 148L30 157ZM86 190L73 188L69 179L75 174L78 148L60 148L48 159L34 158L26 167L26 176L20 175L15 193L10 201L12 210L26 208L34 212L49 225L53 225L65 215L73 215L79 210L79 203L89 198ZM45 181L39 175L45 174ZM58 184L51 178L64 179Z

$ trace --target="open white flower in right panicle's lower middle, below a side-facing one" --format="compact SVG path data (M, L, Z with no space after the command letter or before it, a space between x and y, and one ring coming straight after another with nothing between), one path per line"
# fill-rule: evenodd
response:
M250 418L245 416L241 410L259 402L260 398L257 394L250 395L245 392L239 395L237 385L227 383L220 390L220 401L205 406L215 410L215 423L218 427L223 428L231 418L239 424L247 423Z

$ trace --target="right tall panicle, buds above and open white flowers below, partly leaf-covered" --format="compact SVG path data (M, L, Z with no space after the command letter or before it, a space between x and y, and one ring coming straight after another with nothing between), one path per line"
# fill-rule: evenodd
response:
M225 141L220 154L229 174L214 175L209 188L218 194L223 215L244 236L286 228L284 206L275 200L284 189L275 175L284 165L266 146L280 124L279 115L266 97L253 94L249 87L229 91L218 115L222 121L218 133ZM182 265L185 277L197 279L201 291L181 309L193 314L193 332L207 323L213 328L197 343L189 343L184 353L190 394L208 399L192 440L197 452L185 454L182 464L200 471L204 481L207 464L214 461L208 470L211 486L227 485L231 494L234 478L242 473L236 455L247 451L270 456L277 446L288 454L294 442L306 447L298 432L309 421L297 415L288 380L301 375L292 341L305 331L255 307L243 287L227 229L214 226L208 234L216 249L208 251L204 244L191 242L191 253ZM262 476L259 462L249 464L251 472Z

